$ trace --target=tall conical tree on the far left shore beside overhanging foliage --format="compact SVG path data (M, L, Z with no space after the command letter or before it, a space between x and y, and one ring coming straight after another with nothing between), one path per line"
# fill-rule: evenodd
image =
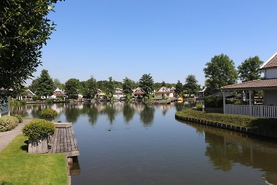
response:
M54 93L54 82L46 69L42 69L42 73L35 81L35 94L37 96L51 96Z

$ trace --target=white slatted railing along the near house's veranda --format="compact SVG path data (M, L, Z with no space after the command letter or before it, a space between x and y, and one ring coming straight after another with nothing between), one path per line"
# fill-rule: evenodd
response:
M238 114L246 116L262 116L277 118L277 106L270 105L225 105L225 114Z

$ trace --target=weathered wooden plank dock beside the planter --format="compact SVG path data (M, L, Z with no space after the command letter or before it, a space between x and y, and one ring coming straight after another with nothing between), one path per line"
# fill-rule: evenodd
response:
M66 157L80 155L80 148L72 129L72 123L55 123L56 131L50 139L48 154L62 153Z

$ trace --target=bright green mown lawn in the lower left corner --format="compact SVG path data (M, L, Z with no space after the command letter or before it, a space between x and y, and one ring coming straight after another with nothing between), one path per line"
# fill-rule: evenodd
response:
M0 152L0 184L67 184L64 155L28 154L28 138L19 135Z

